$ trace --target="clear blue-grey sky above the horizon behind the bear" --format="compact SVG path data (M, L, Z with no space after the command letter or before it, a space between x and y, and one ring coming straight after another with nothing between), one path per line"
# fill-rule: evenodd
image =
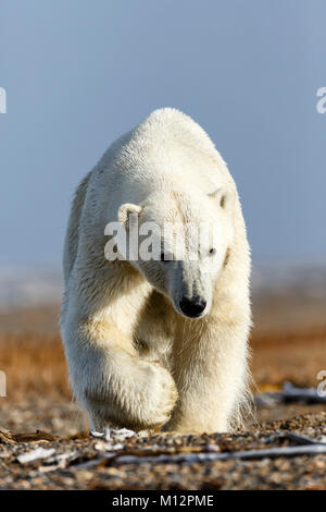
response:
M176 107L238 184L253 258L325 259L326 2L2 0L0 265L61 263L74 187Z

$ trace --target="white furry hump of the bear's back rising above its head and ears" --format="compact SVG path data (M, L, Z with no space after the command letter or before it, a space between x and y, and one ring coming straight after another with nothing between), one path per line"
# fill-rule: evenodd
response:
M138 188L170 181L205 192L235 183L205 131L174 108L154 110L111 145L100 161L108 180Z

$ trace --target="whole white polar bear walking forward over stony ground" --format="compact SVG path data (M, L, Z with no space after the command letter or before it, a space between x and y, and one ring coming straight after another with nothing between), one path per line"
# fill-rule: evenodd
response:
M105 258L105 225L127 232L131 218L209 222L218 240L196 260L187 247L181 259ZM191 118L159 109L112 144L76 191L63 266L62 338L92 428L237 426L249 395L250 248L235 182Z

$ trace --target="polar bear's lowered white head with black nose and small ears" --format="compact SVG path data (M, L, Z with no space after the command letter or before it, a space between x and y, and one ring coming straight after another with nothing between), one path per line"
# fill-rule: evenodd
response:
M234 239L235 202L236 192L222 186L210 194L154 193L118 209L128 235L125 257L187 318L211 309Z

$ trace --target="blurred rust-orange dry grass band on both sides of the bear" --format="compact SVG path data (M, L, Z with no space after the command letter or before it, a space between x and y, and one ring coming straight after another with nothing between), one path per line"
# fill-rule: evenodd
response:
M326 330L287 334L253 332L252 371L261 390L291 380L317 386L316 375L326 369ZM0 334L0 369L7 374L8 400L28 397L70 399L66 363L58 333Z

